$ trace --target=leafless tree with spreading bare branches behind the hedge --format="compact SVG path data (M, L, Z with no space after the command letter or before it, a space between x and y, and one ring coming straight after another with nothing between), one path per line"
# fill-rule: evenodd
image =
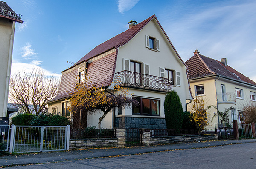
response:
M44 103L57 95L58 86L59 80L47 76L41 68L17 72L10 79L9 102L19 104L26 113L35 111L38 115L46 109Z

